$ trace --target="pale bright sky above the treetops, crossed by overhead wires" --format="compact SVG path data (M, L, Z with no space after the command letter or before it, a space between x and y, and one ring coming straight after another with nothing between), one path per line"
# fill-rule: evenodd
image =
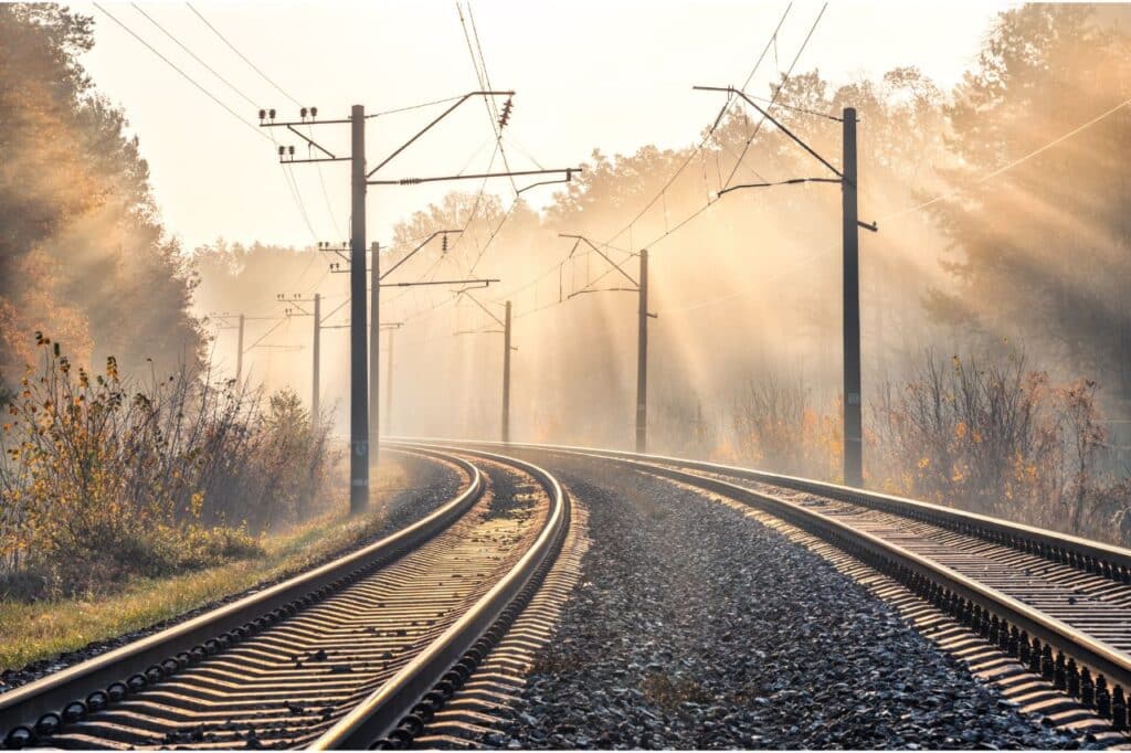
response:
M472 11L491 84L517 92L507 129L511 167L534 166L524 149L545 167L567 167L586 161L594 148L618 154L645 144L690 144L719 105L716 95L692 92L691 86L740 85L786 5L475 0ZM254 105L131 5L103 7L248 123L257 122L259 106L276 107L280 118L297 115L297 105L233 53L187 5L147 2L141 9ZM452 2L200 0L193 7L286 93L318 106L320 118L347 116L353 104L379 112L478 88ZM771 47L752 90L765 93L766 83L788 68L820 7L805 0L793 3L776 55ZM983 1L834 0L797 70L815 67L843 83L914 64L950 86L974 62L993 16L1005 7ZM288 168L312 237L275 146L256 132L260 129L241 124L93 5L78 2L75 8L96 19L96 46L84 63L98 88L126 109L149 162L166 227L187 248L218 236L293 245L345 240L346 163ZM369 121L370 164L440 110ZM348 152L348 126L322 126L313 132L336 154ZM275 133L282 142L301 146L291 135ZM491 138L483 104L468 102L390 163L388 176L482 172L491 157ZM474 191L478 182L371 187L370 239L388 240L395 222L452 188ZM494 188L509 200L509 183L497 181ZM535 189L524 196L537 206L550 191Z

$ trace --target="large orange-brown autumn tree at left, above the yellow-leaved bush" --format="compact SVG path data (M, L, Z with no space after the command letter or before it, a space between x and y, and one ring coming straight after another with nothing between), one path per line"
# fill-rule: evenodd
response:
M0 372L33 361L31 332L135 370L199 365L193 278L157 217L124 114L78 55L93 19L55 5L0 6Z

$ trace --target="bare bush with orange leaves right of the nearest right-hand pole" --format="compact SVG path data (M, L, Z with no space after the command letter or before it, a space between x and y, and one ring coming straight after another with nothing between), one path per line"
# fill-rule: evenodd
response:
M870 484L941 504L1110 542L1131 488L1104 470L1098 387L1053 384L1024 354L985 361L927 353L872 404Z

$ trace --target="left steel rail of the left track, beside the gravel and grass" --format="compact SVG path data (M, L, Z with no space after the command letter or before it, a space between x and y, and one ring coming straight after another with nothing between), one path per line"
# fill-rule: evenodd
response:
M416 548L458 520L483 494L474 465L430 448L403 448L458 466L468 485L421 520L308 572L225 604L161 632L0 693L0 739L7 746L34 744L64 722L105 708L147 685L199 663L356 581L377 566Z

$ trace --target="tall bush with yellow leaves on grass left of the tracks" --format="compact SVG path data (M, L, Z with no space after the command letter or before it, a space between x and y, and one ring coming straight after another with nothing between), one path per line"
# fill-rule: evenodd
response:
M135 386L113 357L92 374L36 343L43 366L9 396L0 434L0 594L105 590L253 556L248 523L293 518L296 495L323 482L325 431L285 396L261 415L233 383L182 371Z

